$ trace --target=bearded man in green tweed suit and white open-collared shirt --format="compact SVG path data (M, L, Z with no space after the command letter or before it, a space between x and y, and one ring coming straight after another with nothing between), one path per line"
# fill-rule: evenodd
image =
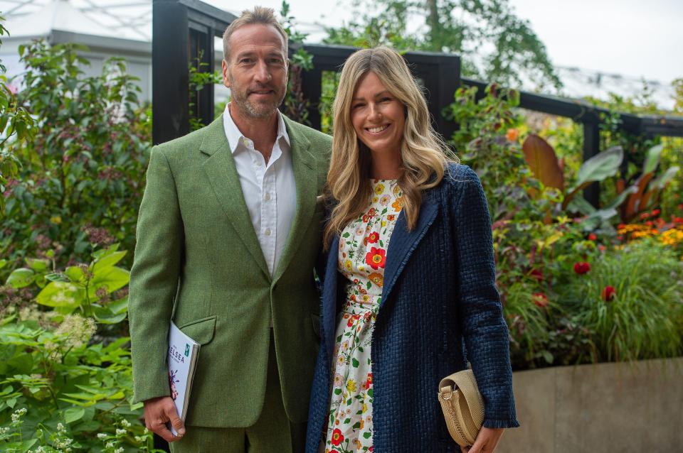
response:
M134 398L173 452L300 452L332 138L277 111L287 36L272 9L245 11L223 47L226 111L149 160L130 283ZM201 344L186 426L169 396L171 320Z

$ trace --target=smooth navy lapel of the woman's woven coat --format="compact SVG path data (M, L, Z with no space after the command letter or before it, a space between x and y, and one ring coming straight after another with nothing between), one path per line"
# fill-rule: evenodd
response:
M386 251L386 268L384 268L384 286L382 288L382 305L388 298L393 285L408 263L408 258L418 246L420 240L433 224L438 212L438 204L433 197L423 197L420 205L420 217L413 231L408 231L406 216L401 212L396 219L396 226L389 240Z

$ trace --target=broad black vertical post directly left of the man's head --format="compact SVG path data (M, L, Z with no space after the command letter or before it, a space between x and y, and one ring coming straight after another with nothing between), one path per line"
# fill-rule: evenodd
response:
M189 132L187 8L177 0L152 3L152 143ZM213 55L212 55L213 56Z

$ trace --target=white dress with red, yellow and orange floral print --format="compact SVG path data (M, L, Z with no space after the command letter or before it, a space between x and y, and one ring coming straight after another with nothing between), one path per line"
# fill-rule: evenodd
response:
M339 239L339 271L346 300L337 319L332 398L325 453L372 452L372 361L370 342L381 304L389 239L403 194L396 180L372 180L369 207Z

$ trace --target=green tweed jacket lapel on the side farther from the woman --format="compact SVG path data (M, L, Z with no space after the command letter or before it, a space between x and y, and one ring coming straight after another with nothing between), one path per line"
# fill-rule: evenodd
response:
M199 150L208 155L202 167L211 183L218 202L226 212L228 221L233 225L249 253L258 263L261 271L270 278L268 265L263 258L263 251L256 237L251 217L244 201L240 178L235 168L235 160L223 129L223 115L218 116L206 127L206 135Z

